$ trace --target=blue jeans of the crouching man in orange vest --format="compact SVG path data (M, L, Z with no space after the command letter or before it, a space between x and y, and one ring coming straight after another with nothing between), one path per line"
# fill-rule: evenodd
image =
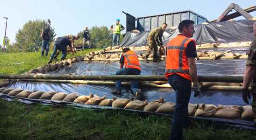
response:
M116 75L141 75L141 70L135 68L122 68L118 70ZM131 81L131 90L133 93L138 91L139 81ZM121 90L121 81L115 81L115 88Z

